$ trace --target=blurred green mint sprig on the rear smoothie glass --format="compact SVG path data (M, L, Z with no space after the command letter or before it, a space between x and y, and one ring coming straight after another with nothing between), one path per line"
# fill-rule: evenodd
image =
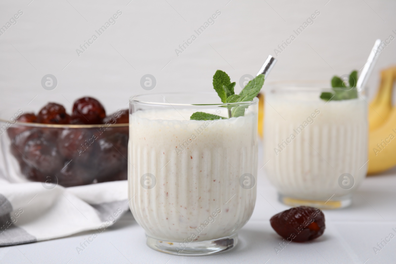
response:
M352 71L349 74L348 83L346 85L341 78L338 76L334 76L331 79L331 92L323 92L320 95L320 98L329 101L329 100L349 100L358 98L358 89L356 88L356 83L358 82L358 72L356 70Z

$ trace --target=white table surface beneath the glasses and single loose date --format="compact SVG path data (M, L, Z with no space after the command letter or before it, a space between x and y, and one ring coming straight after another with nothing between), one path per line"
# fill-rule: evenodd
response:
M261 148L260 148L261 150ZM261 154L261 151L260 151ZM259 155L261 156L261 155ZM260 160L260 159L259 159ZM263 162L259 162L259 168ZM0 264L8 263L395 263L396 237L375 254L381 239L396 235L396 168L370 176L345 209L324 210L326 230L310 243L289 243L278 252L282 238L269 223L270 217L288 209L277 199L264 169L257 177L257 200L252 217L238 232L239 243L226 253L212 256L175 256L147 247L145 232L128 211L78 254L76 247L92 232L62 239L0 248ZM283 242L283 241L282 241Z

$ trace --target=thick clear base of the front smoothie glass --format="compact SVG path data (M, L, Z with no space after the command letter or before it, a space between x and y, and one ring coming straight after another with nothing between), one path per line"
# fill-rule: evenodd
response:
M223 253L236 246L238 234L213 241L171 242L147 236L147 245L160 252L181 256L203 256Z

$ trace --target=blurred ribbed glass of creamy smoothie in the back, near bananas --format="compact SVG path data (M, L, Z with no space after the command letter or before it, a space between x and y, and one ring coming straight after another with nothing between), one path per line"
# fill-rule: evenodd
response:
M264 163L281 202L322 209L351 204L367 172L364 95L323 100L318 82L281 82L265 93Z

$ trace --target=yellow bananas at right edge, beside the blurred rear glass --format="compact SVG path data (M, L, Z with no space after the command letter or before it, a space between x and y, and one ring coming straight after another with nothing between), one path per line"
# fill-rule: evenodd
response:
M367 174L380 173L396 165L396 107L392 108L393 82L396 79L396 67L382 72L382 95L377 95L377 110L382 111L386 121L381 122L376 129L369 131L369 161ZM389 96L389 98L387 97ZM381 107L379 103L386 104ZM388 106L390 104L390 106ZM381 109L381 110L380 110ZM386 109L390 111L386 114ZM382 118L381 118L382 119ZM372 120L369 120L372 122ZM377 122L378 124L379 122ZM371 123L370 123L371 127ZM374 126L375 127L375 126Z

